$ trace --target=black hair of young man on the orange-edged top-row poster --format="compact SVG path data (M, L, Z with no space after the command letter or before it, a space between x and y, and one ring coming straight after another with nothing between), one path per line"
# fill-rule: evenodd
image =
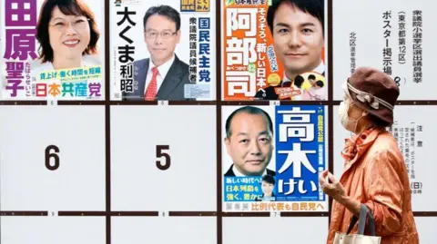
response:
M300 11L308 13L320 21L323 35L325 35L325 3L324 0L272 0L267 11L267 24L273 34L273 20L280 5L294 5Z

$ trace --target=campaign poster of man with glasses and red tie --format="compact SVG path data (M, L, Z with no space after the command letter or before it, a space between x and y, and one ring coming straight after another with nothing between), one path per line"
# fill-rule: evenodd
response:
M215 100L215 1L111 5L111 99Z

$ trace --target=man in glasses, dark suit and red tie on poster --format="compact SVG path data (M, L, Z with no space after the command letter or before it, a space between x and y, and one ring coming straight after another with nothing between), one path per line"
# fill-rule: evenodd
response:
M147 49L149 57L134 62L137 89L124 93L125 100L188 100L184 87L190 83L189 66L175 54L181 24L181 16L172 6L155 5L147 9L142 21L144 45L138 44L136 49Z

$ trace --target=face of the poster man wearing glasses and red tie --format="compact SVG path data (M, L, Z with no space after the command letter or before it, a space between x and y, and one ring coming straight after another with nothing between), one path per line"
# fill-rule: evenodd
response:
M180 41L180 30L176 31L176 23L163 15L151 15L145 28L147 50L156 65L166 63L175 52Z

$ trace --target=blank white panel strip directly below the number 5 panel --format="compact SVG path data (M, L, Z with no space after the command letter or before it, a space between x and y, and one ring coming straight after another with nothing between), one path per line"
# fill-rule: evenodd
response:
M117 217L112 219L112 244L217 243L215 217Z

